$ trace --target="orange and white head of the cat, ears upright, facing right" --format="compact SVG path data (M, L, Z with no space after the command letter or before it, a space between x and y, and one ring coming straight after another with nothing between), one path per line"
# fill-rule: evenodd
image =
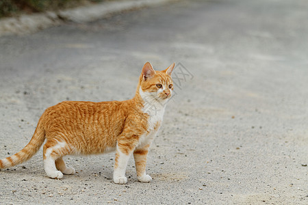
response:
M146 100L168 100L173 91L171 79L173 68L175 68L174 63L166 70L156 71L149 62L146 62L140 75L140 96Z

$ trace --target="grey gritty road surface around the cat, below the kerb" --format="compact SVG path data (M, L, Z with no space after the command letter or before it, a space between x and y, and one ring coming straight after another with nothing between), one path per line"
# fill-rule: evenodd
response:
M151 146L151 183L112 182L114 154L42 150L0 172L1 204L307 204L308 4L176 1L92 23L0 38L0 153L21 150L47 107L126 100L142 65L175 61L176 95Z

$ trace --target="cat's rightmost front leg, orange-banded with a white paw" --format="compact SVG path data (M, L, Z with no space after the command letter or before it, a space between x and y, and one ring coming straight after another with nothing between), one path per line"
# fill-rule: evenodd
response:
M150 145L146 145L142 148L136 148L133 151L133 158L135 159L137 178L140 182L151 182L152 178L149 174L146 174L146 156L149 152Z

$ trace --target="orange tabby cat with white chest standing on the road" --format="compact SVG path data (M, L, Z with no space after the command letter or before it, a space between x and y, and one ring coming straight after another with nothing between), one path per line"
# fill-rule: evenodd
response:
M140 182L150 182L146 156L162 123L166 102L172 95L171 72L155 71L149 62L142 68L136 95L131 100L110 102L64 101L44 111L33 137L16 154L0 160L0 168L23 163L43 150L44 169L50 178L75 174L62 157L116 151L114 182L127 183L125 170L133 154Z

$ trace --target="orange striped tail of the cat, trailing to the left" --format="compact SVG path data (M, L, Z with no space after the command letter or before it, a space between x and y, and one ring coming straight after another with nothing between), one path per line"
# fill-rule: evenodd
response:
M34 154L36 154L36 152L38 152L40 146L42 146L42 143L44 142L44 139L45 131L40 119L38 121L36 131L34 131L34 135L27 146L12 156L9 156L5 159L0 159L0 169L13 167L30 159L32 156L34 156Z

